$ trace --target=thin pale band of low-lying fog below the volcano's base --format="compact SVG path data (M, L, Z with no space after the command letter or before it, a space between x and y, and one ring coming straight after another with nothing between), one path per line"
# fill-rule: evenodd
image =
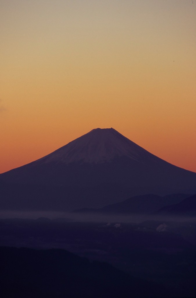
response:
M3 211L0 210L0 219L5 218L25 218L38 219L49 218L58 219L64 218L70 221L81 222L124 222L124 223L140 223L143 221L196 221L195 217L186 216L164 216L164 215L144 215L144 214L93 214L93 213L73 213L73 212L52 212L52 211Z

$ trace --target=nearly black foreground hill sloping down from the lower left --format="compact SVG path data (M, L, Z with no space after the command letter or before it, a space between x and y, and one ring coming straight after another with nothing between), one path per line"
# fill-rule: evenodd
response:
M0 261L1 297L170 297L156 283L65 250L0 247Z

